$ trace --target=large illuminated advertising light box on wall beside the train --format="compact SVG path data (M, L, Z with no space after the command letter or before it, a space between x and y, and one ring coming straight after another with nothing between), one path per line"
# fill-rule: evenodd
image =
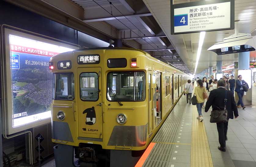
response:
M2 26L2 105L4 129L13 134L50 122L52 56L79 49L78 45ZM25 33L24 33L25 32Z

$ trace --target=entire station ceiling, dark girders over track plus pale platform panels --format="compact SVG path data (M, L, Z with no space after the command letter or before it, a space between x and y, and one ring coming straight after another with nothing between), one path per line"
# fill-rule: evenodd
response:
M5 1L106 42L122 39L123 46L144 50L186 73L194 72L199 33L171 35L170 0ZM174 4L195 1L200 0L174 0ZM240 33L255 35L255 18L255 0L235 0L235 20L240 20ZM217 60L222 60L224 67L238 60L238 54L217 56L207 51L232 34L234 30L206 32L197 72L216 66ZM256 53L251 55L254 60Z

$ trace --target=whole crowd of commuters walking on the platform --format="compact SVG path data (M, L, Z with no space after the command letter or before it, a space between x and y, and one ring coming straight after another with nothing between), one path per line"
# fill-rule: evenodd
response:
M198 111L197 119L199 119L200 122L203 121L203 107L205 107L205 112L207 112L210 107L212 107L212 110L226 109L227 120L238 117L237 108L245 108L242 98L244 91L248 89L249 86L247 82L242 80L242 75L238 75L237 78L238 79L235 80L233 75L231 75L230 79L223 76L219 80L215 79L213 75L211 75L211 78L208 79L203 77L202 80L197 77L195 79L193 78L192 86L191 80L188 80L188 83L185 86L185 90L188 90L187 103L189 102L189 104L191 104L191 97L194 89L194 95L196 96L196 108ZM197 84L195 88L194 82ZM239 98L237 103L235 102L234 91L237 93ZM224 101L226 101L226 106L224 105ZM218 149L221 151L226 151L225 141L227 140L228 122L217 123L217 130L220 143Z

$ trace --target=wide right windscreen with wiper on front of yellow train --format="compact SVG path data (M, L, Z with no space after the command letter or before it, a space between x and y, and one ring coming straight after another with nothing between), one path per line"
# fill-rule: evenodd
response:
M109 101L117 101L117 99L119 101L145 100L145 80L143 71L109 72L107 75L107 99Z

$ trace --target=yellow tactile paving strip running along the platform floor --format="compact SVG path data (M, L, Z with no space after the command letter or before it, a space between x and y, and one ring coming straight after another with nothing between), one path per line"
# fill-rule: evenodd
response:
M213 167L204 123L199 122L197 116L196 106L193 106L190 167Z

